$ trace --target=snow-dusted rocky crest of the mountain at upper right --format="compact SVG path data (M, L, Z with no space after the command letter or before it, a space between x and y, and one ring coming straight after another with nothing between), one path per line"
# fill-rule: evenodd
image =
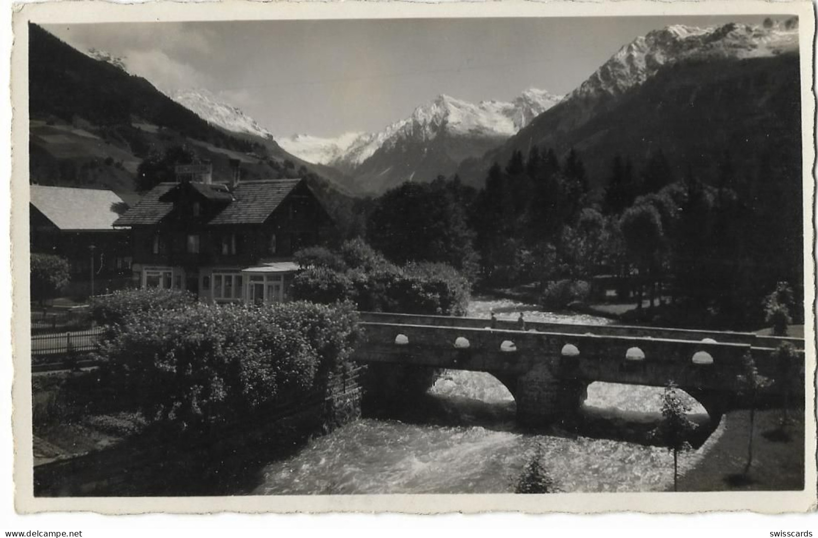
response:
M483 184L485 173L494 162L504 163L515 150L528 151L531 146L547 146L564 155L569 146L585 154L595 153L595 139L604 139L605 131L587 132L584 126L615 110L622 100L675 65L719 62L733 69L740 61L789 55L798 51L797 21L771 21L769 27L728 24L708 28L672 25L635 38L621 47L599 69L559 104L537 116L501 146L488 150L478 159L465 159L457 173L474 186ZM708 75L709 76L709 75ZM654 96L651 96L654 98ZM661 110L656 110L662 113ZM624 120L626 121L627 120ZM600 129L622 126L605 125ZM584 129L584 131L583 131ZM628 126L627 129L631 129ZM626 130L627 130L626 129ZM578 133L586 132L583 137ZM665 137L667 138L667 137ZM681 141L668 141L678 144ZM622 144L613 144L622 147ZM631 148L631 155L641 157L645 146ZM585 155L595 171L602 172L602 155ZM610 155L605 153L605 158Z

